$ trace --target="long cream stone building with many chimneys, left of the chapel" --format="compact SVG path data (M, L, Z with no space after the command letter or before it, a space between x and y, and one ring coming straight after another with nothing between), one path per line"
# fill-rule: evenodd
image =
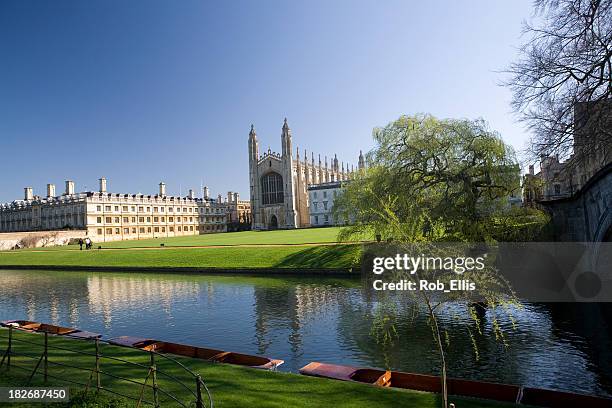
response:
M231 206L219 195L202 198L190 190L188 196L166 195L159 184L155 195L107 192L101 178L97 192L75 192L66 181L64 194L56 196L55 186L47 185L47 197L25 189L23 200L0 205L0 232L82 229L93 241L119 241L197 235L227 231Z

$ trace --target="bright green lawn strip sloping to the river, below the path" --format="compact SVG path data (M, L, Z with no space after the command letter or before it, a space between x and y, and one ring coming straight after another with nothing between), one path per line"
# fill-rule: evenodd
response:
M221 247L0 252L0 266L151 268L321 268L354 267L360 245L309 247Z

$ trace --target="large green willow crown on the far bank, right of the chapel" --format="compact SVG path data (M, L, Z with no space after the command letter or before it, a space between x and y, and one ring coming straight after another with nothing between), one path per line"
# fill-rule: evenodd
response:
M354 220L339 239L528 240L547 222L537 210L511 207L520 168L513 149L484 121L402 116L373 135L368 169L334 205L335 217ZM390 213L402 237L393 235Z

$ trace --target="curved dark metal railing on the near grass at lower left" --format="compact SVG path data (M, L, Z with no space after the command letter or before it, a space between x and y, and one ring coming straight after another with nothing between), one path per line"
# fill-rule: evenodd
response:
M87 342L92 344L91 351L83 351L70 349L66 347L60 347L58 345L49 344L49 336L62 338L62 336L55 336L53 334L49 334L47 332L44 333L30 333L33 336L43 335L44 341L41 344L40 342L30 341L21 338L22 336L15 336L13 327L2 327L0 330L0 340L7 341L7 347L5 350L0 348L0 354L2 358L0 360L0 369L5 368L7 371L11 369L18 369L21 371L29 372L29 376L27 379L26 386L30 385L34 377L38 375L42 375L43 381L46 384L49 378L72 384L73 386L84 387L85 391L88 392L90 389L95 389L100 392L107 392L122 398L130 399L136 401L137 407L141 405L151 405L155 408L162 407L162 400L170 402L172 405L180 406L184 408L213 408L213 399L208 387L204 383L202 377L194 373L192 370L187 368L180 361L173 359L167 355L157 353L155 351L144 351L139 349L129 349L132 352L138 353L140 356L149 355L149 364L137 363L134 361L129 361L127 359L111 356L102 353L101 345L109 345L107 341L100 340L99 338L94 339L71 339L78 344L84 344L83 342ZM8 331L8 335L4 335L3 332ZM23 337L27 337L26 332L19 330L20 334L23 334ZM16 346L18 345L26 345L32 350L41 351L40 354L31 355L26 353L18 353L16 351ZM113 346L120 347L120 346ZM90 368L82 367L78 365L69 364L65 361L59 361L59 359L50 358L49 351L55 350L64 353L72 353L75 357L81 356L81 358L91 358L92 364ZM16 359L25 359L30 361L35 361L34 368L28 368L20 364L16 364ZM168 364L171 364L176 369L180 370L180 372L187 376L188 380L180 379L176 375L173 375L166 370L160 369L159 362L167 361ZM113 362L119 363L122 368L130 367L142 370L143 372L143 381L138 381L133 378L128 378L120 375L117 372L110 372L109 370L103 370L101 365L103 362ZM62 369L73 369L77 372L86 372L88 374L88 379L86 382L80 382L76 379L69 379L67 376L57 376L54 375L50 367L60 367ZM113 382L110 382L109 385L103 386L102 377L110 377L114 381L124 381L133 385L137 388L138 396L129 395L125 392L121 392L117 390L117 387L114 387ZM173 384L175 388L178 388L180 393L173 393L169 389L165 389L165 387L160 385L160 377L165 378L165 381ZM148 400L145 398L146 391L150 390L150 394L152 396L152 400ZM185 397L186 395L186 397ZM164 403L165 404L165 403Z

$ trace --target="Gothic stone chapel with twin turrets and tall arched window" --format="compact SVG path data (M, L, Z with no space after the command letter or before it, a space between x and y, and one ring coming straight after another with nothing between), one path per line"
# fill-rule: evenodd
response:
M287 119L281 131L281 152L268 149L260 154L253 125L249 133L249 184L251 193L252 228L254 230L306 228L310 223L308 186L348 180L353 168L340 164L334 155L331 163L315 163L314 153L300 157L293 150L291 129ZM363 155L359 160L364 164Z

